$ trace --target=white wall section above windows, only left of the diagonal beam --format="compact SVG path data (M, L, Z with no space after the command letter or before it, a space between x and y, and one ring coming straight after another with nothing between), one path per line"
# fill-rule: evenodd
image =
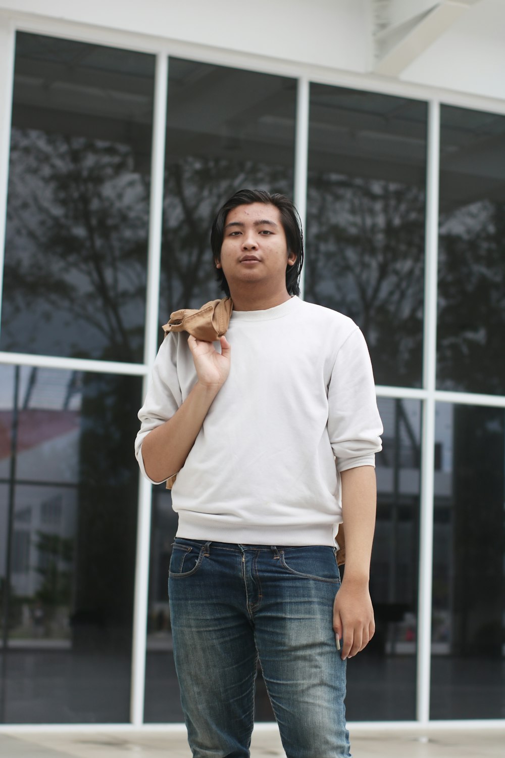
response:
M0 8L220 48L366 70L367 0L3 0Z

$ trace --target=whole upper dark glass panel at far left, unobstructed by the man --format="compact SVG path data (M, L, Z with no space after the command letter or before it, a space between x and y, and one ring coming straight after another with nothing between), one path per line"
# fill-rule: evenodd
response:
M142 361L154 56L17 33L0 349Z

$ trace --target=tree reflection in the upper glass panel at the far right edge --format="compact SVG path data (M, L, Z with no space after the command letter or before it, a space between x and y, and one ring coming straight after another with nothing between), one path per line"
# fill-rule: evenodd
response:
M505 392L505 205L441 215L438 386Z

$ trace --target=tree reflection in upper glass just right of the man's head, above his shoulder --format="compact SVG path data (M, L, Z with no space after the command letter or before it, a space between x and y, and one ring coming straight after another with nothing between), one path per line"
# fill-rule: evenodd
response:
M305 297L359 324L378 384L419 386L424 190L313 174Z

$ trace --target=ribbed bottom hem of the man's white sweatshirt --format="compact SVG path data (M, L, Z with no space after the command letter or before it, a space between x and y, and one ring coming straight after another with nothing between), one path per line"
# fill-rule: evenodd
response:
M188 511L179 511L177 537L186 540L210 540L230 542L239 545L329 545L335 547L333 534L337 531L332 524L301 524L267 526L257 524L215 524L212 517Z

